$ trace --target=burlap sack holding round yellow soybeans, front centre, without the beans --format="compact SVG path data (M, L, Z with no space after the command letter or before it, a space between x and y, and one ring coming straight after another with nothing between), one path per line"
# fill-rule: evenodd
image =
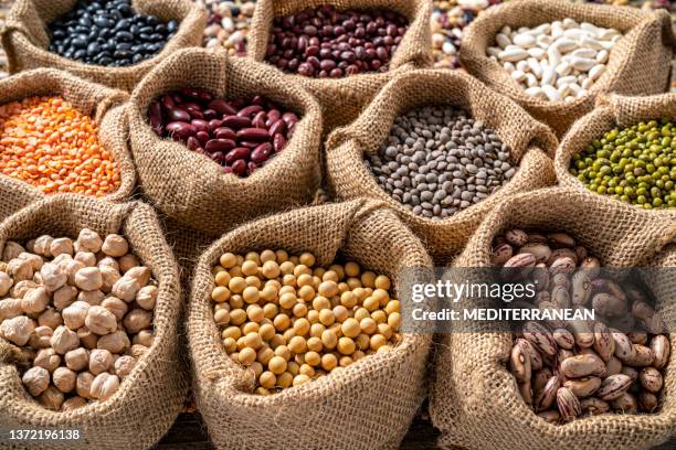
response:
M279 394L253 392L253 377L223 350L213 321L211 267L223 251L307 250L328 265L340 251L393 277L430 267L422 244L397 216L363 200L311 206L249 223L202 255L189 304L188 338L198 408L220 449L397 448L425 393L430 335L403 334L391 352Z

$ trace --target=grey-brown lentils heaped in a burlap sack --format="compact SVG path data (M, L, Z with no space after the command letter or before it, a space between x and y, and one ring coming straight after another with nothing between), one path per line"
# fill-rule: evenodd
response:
M388 194L432 219L480 202L516 172L509 147L494 130L448 106L398 117L387 142L366 163Z

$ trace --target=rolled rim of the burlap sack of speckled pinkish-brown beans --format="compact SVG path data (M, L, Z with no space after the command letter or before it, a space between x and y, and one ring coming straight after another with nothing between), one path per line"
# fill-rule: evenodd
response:
M471 238L467 245L467 248L475 248L475 247L477 248L477 251L473 254L472 256L473 267L492 267L492 264L490 264L492 248L490 247L492 247L493 239L492 238L484 239L484 236L494 235L493 229L495 228L494 223L496 221L503 224L500 225L499 228L504 228L505 226L506 227L514 226L514 225L510 225L509 218L498 219L498 217L503 217L504 215L509 215L508 212L513 207L513 204L528 202L529 199L531 199L534 194L537 195L538 197L542 195L545 196L573 195L573 196L577 196L580 201L590 200L590 197L584 195L584 193L581 193L579 191L573 191L570 189L564 189L564 188L549 188L545 190L538 190L538 191L534 191L530 193L524 193L524 194L511 196L507 202L503 203L500 206L495 208L486 217L486 219L482 223L482 225L479 225L479 228L477 229L475 235ZM615 204L615 202L612 202L611 199L600 197L600 199L592 199L592 200L596 203L604 204L605 208L620 208L626 215L643 216L644 221L646 222L654 221L654 216L651 217L651 215L647 214L646 211L635 210L625 204ZM522 228L528 229L527 226L522 226ZM668 228L669 228L669 232L667 234L663 236L655 236L655 239L652 242L652 246L648 248L645 248L645 253L648 254L645 260L637 260L636 261L637 264L648 262L658 251L666 248L667 245L676 243L676 222L674 222L672 226ZM504 229L498 229L497 233L500 233L500 231L504 231ZM562 229L559 228L558 224L552 224L551 231L562 231ZM463 265L465 262L466 261L464 261ZM505 405L508 405L509 407L516 407L516 410L514 410L515 416L511 417L510 420L513 422L518 421L519 424L521 424L524 426L524 430L535 428L538 430L538 432L546 433L548 437L552 439L563 439L563 438L569 438L575 432L577 433L589 432L590 426L593 426L595 430L603 432L603 430L608 430L609 425L616 425L617 422L622 422L626 420L632 420L634 424L640 424L641 426L644 426L646 428L654 427L655 424L662 424L663 427L668 426L669 424L672 425L676 424L676 410L673 407L672 407L672 410L668 413L664 411L664 409L661 409L661 411L656 414L642 414L642 415L605 414L605 415L600 415L600 416L580 417L564 425L549 424L546 420L540 419L538 416L536 416L532 409L526 405L520 394L518 393L517 383L516 383L516 379L514 378L514 375L509 373L506 367L508 352L511 349L513 333L482 333L480 335L485 340L492 339L496 342L496 345L492 347L493 352L490 354L475 353L475 354L472 354L471 356L465 355L465 358L469 357L472 360L473 366L489 366L490 367L496 378L490 379L490 381L486 379L485 381L486 384L487 385L489 384L490 386L489 389L492 390L503 389L503 387L505 388L501 392L503 394L506 395L506 397L504 397L501 401L504 401ZM676 342L676 338L672 336L670 342L672 342L672 345L674 345L674 343ZM453 355L450 355L450 357L453 357ZM676 354L672 352L668 369L673 369L675 366L676 366ZM508 388L509 386L514 386L514 388ZM478 389L478 386L475 389ZM665 393L665 395L672 395L670 398L674 398L673 394L674 393L668 393L668 392ZM480 398L468 398L467 399L468 403L477 401L477 400L480 400ZM672 404L673 404L673 400L672 400ZM443 429L444 432L451 432L448 437L450 437L450 440L452 441L453 440L452 430L446 429L443 426L441 428ZM619 427L615 431L623 432L623 430L625 430L625 428ZM480 441L478 443L485 444L485 442L480 442Z

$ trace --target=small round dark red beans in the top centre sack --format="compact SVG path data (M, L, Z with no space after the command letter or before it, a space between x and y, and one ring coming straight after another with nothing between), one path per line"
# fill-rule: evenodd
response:
M406 19L393 11L307 9L275 18L266 60L320 78L387 72L406 28Z

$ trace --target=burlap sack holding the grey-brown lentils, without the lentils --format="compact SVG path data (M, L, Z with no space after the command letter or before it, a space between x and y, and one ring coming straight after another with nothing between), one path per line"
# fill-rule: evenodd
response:
M483 202L443 221L413 214L392 199L363 162L365 153L379 150L397 116L425 105L453 105L493 128L511 148L519 167L511 181ZM460 253L487 212L516 192L552 185L551 158L557 139L518 105L471 76L450 71L421 69L398 75L374 98L359 119L336 130L326 144L329 190L340 200L379 199L394 210L426 244L437 265Z

